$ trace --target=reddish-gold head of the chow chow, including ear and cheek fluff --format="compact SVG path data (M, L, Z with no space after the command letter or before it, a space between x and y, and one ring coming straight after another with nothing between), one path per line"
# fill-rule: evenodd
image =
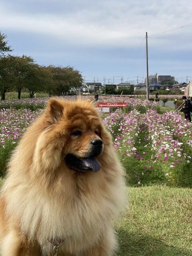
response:
M100 170L99 159L111 138L90 100L52 98L44 113L44 126L35 150L35 161L44 168L61 163L74 171Z

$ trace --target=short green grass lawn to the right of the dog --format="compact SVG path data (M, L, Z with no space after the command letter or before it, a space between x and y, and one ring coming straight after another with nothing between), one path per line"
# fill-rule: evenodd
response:
M116 224L117 256L192 256L192 190L128 188L130 209Z

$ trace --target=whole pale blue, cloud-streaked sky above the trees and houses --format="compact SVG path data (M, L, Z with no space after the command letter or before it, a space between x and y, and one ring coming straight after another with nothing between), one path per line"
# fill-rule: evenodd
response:
M142 80L147 31L149 73L192 80L192 0L0 0L0 31L14 55L106 82Z

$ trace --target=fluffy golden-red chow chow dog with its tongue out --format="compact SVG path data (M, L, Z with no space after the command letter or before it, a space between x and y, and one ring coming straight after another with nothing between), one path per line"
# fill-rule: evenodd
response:
M111 256L124 198L124 172L94 104L51 98L8 164L1 255Z

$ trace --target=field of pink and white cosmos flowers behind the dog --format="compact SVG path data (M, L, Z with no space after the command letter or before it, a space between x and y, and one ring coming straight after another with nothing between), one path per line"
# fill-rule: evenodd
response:
M75 96L66 98L74 100ZM88 97L86 97L88 98ZM42 112L48 98L8 100L0 105L0 176L24 131ZM128 113L102 114L114 148L134 186L168 184L192 187L192 124L180 114L160 113L160 106L138 98L102 97L102 102L128 102ZM33 106L33 107L31 107Z

